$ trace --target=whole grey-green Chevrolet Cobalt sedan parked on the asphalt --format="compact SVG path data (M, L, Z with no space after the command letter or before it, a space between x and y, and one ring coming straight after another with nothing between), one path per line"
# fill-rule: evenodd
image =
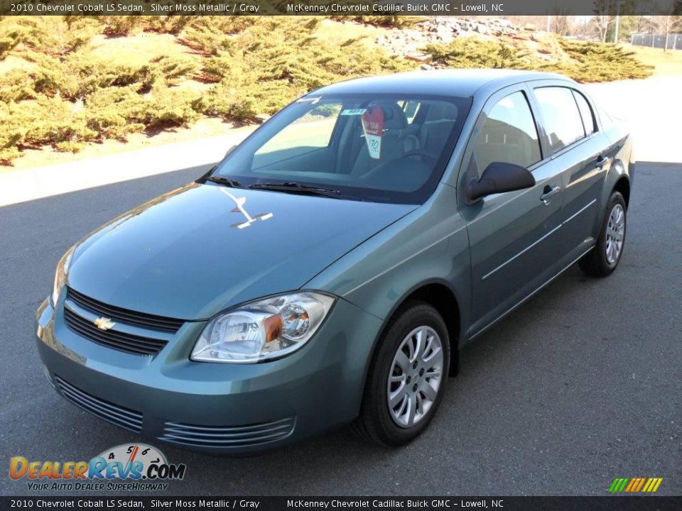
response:
M623 253L629 134L559 75L323 87L60 261L38 348L67 400L245 454L423 432L458 350L576 261Z

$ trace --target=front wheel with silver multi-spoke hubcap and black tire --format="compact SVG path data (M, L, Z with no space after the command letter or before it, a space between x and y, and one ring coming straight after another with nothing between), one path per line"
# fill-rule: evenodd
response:
M406 304L374 351L359 417L352 428L383 446L401 446L431 422L450 365L448 329L425 302Z

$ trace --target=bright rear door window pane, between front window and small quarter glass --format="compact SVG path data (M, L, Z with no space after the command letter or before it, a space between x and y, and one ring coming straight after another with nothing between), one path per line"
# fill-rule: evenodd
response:
M563 149L585 136L583 119L570 89L541 87L535 89L535 97L553 150Z

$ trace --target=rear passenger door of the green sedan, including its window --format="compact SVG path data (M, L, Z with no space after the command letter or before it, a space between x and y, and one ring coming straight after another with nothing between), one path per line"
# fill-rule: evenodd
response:
M546 81L534 82L533 96L553 161L563 170L561 269L595 243L598 198L612 160L582 92L565 82Z

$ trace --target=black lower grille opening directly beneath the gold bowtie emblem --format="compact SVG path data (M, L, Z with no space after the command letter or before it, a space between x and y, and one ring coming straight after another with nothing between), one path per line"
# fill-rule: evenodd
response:
M163 339L126 334L122 331L100 330L94 323L80 317L67 307L64 308L64 319L66 326L85 339L134 355L153 355L161 351L161 348L168 342Z

